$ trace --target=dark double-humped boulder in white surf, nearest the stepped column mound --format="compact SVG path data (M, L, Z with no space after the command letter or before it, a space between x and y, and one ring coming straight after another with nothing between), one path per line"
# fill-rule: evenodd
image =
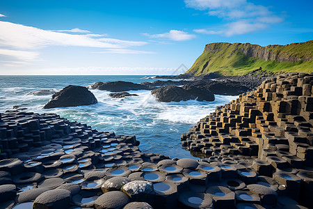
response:
M214 94L204 88L195 86L163 86L152 92L159 102L180 102L186 100L214 101Z

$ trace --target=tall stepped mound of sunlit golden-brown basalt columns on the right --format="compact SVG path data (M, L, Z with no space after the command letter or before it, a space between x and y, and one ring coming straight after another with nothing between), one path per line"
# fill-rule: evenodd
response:
M252 167L266 176L312 171L312 85L313 74L305 73L266 80L256 91L239 95L200 120L182 134L182 145L207 156L255 156ZM271 169L265 171L268 164ZM302 189L302 196L312 196L312 188Z

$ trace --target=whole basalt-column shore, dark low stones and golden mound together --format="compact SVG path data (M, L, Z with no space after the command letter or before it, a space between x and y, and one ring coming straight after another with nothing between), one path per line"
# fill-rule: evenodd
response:
M279 75L217 107L182 135L198 161L142 153L135 136L56 114L6 111L0 208L312 208L312 84L312 74Z

